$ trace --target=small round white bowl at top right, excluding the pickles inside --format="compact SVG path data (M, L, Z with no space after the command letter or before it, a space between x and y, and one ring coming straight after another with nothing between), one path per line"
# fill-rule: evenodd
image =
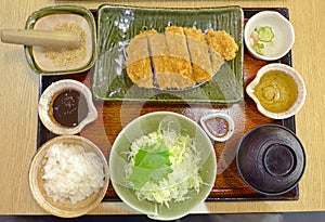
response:
M250 35L256 27L270 26L274 34L272 43L265 45L268 54L258 54L252 49ZM295 43L295 30L291 23L275 11L262 11L248 19L244 30L244 40L248 51L259 60L275 61L285 56ZM268 49L266 49L268 48Z

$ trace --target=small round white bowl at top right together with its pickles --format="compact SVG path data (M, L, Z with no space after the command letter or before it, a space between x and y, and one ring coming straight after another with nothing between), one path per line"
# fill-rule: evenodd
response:
M262 11L246 23L244 40L252 56L275 61L285 56L295 43L291 23L275 11Z

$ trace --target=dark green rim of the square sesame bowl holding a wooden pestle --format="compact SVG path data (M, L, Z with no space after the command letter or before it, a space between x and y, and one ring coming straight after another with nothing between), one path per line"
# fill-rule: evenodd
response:
M82 65L80 67L74 67L74 68L62 68L56 70L46 70L42 69L35 60L35 54L31 45L25 45L25 56L26 60L31 67L31 69L37 74L42 75L67 75L67 74L76 74L76 73L82 73L88 69L90 69L94 62L96 56L96 26L94 17L89 9L86 9L83 6L78 5L53 5L53 6L47 6L42 8L36 12L34 12L26 21L25 29L34 29L36 23L38 19L48 16L48 15L61 15L61 14L75 14L82 16L89 26L89 30L91 35L91 56L89 58L89 62L86 65Z

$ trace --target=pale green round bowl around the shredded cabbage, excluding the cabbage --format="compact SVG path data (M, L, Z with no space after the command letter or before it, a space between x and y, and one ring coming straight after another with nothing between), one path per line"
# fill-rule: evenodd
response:
M200 185L198 193L190 191L186 195L190 197L188 199L178 203L170 201L169 207L145 199L138 199L134 191L125 184L125 169L128 164L127 152L130 149L131 143L142 135L156 131L159 122L165 119L172 119L173 128L177 128L181 134L188 134L194 139L202 154L199 174L205 183L205 185ZM217 158L210 139L195 121L180 114L156 112L140 116L122 129L113 144L109 168L113 187L122 201L152 219L176 220L186 216L207 198L216 181Z

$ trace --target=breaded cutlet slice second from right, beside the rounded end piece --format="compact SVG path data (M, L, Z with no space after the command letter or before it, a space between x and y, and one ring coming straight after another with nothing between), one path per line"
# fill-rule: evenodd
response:
M188 52L192 61L194 78L196 82L212 79L212 67L209 55L209 47L205 35L196 28L184 28Z

